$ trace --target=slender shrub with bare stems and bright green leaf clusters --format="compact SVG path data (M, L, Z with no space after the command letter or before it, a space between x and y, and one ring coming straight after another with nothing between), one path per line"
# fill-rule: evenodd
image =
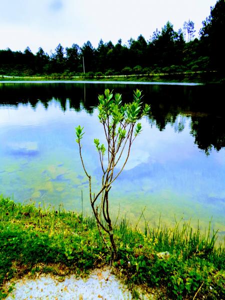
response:
M83 127L81 128L79 125L75 128L76 142L79 145L82 167L89 180L90 204L99 233L105 245L109 247L112 258L116 257L117 247L113 237L113 224L109 214L108 193L112 183L120 175L128 160L133 141L141 132L141 123L137 123L137 121L150 110L149 105L145 104L144 107L142 106L140 102L141 98L141 91L139 90L134 91L133 102L125 103L124 105L122 105L121 95L113 95L108 89L104 91L104 95L98 96L98 118L104 129L106 146L100 144L99 139L94 139L94 145L99 154L102 170L101 186L96 193L92 192L91 176L87 172L81 153L82 145L80 141L84 134ZM118 162L120 162L119 168ZM110 246L108 246L108 243L104 239L102 230L108 234Z

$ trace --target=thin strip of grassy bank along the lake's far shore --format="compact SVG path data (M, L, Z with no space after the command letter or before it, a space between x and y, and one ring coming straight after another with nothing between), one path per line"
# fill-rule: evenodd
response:
M49 80L71 80L71 81L127 81L127 82L171 82L171 83L224 83L216 72L185 72L185 73L159 73L148 75L111 75L111 76L65 76L52 74L46 76L1 76L0 81L49 81Z

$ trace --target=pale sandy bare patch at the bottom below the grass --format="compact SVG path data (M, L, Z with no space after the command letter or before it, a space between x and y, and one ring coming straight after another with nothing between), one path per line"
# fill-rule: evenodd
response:
M9 299L54 299L54 300L124 300L131 299L131 293L110 273L108 268L95 269L88 278L77 279L74 275L59 282L57 277L41 274L35 279L23 278L15 281Z

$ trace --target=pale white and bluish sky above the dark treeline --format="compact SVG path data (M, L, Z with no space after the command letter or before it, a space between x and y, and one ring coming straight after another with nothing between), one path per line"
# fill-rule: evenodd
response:
M88 40L97 47L100 39L126 44L142 34L149 40L167 21L174 30L184 21L194 22L198 37L201 22L216 0L0 0L0 49L28 46L50 54L60 43L82 46Z

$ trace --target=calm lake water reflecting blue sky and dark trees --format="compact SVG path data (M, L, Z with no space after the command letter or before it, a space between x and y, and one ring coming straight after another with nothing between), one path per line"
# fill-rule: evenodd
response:
M225 130L220 87L111 83L0 83L0 193L17 202L59 203L91 213L74 127L84 126L83 157L100 183L93 138L103 142L97 95L105 88L132 100L143 91L151 114L111 189L111 210L135 223L171 226L181 218L225 233ZM142 220L140 221L141 224Z

